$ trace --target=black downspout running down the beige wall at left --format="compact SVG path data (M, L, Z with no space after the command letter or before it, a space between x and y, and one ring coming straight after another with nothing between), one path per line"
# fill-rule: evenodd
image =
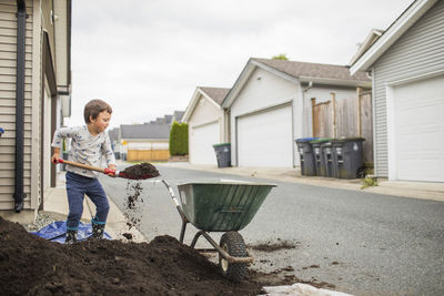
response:
M17 80L16 80L16 188L14 210L23 210L23 154L24 154L24 42L27 6L17 0Z

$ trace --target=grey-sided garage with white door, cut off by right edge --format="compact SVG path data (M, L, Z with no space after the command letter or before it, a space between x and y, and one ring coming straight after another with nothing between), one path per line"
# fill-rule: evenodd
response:
M375 174L444 182L444 1L413 2L357 71L373 78Z

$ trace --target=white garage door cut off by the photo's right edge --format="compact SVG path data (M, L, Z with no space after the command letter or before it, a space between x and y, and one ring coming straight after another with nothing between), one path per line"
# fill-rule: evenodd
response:
M394 88L397 180L444 182L444 76Z

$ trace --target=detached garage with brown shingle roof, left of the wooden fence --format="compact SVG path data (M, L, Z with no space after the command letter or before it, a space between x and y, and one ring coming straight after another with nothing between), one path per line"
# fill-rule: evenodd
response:
M312 136L311 99L355 96L370 88L365 72L285 60L250 59L222 103L230 113L231 163L238 166L299 166L294 139Z

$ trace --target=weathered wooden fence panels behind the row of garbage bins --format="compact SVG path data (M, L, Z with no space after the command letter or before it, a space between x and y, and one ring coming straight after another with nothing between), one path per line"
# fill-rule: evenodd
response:
M316 103L312 98L313 136L364 137L364 163L373 163L372 94L356 89L356 96Z

